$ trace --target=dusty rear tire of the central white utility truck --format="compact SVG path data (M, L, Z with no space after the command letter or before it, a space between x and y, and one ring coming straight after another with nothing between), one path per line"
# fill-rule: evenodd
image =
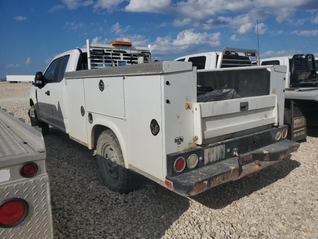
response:
M112 130L99 135L96 159L102 180L110 190L129 193L140 185L142 176L125 168L119 141Z

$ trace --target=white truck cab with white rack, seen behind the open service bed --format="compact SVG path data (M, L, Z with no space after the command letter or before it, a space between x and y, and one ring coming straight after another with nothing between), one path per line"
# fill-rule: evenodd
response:
M221 52L203 52L181 56L175 61L190 61L198 70L259 65L256 50L225 47ZM256 64L253 64L255 61Z

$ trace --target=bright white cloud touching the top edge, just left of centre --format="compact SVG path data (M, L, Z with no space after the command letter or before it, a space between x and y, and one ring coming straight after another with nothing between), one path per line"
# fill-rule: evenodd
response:
M168 10L171 0L130 0L125 7L126 11L135 12L162 12Z

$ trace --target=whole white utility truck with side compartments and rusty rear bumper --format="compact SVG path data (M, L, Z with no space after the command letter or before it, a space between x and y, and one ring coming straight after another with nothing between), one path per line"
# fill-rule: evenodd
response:
M109 47L100 45L100 55ZM129 47L120 51L131 54ZM64 61L67 55L72 61ZM114 191L135 189L143 175L180 195L195 195L275 164L299 147L286 139L283 125L284 66L199 74L191 62L164 61L76 71L78 56L77 50L63 53L43 77L37 73L30 116L95 149L103 181ZM52 71L56 59L61 67ZM64 69L61 80L50 83L51 72ZM199 78L215 79L214 90L198 95Z

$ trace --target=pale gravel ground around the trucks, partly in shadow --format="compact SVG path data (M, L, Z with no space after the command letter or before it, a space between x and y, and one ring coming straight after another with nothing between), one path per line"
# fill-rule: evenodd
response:
M0 106L26 122L30 84L0 84ZM57 239L318 238L318 138L249 178L184 198L145 179L120 195L103 186L92 152L45 137Z

